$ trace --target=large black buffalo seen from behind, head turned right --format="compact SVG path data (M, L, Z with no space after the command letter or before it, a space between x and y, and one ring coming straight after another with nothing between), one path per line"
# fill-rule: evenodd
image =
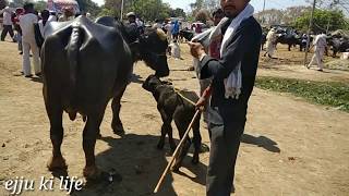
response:
M86 179L100 174L95 164L94 150L110 99L113 114L111 127L116 133L123 132L119 118L120 99L134 61L144 60L158 76L169 74L166 58L168 42L163 32L148 29L136 37L112 17L103 17L97 22L99 24L85 16L64 23L52 22L46 27L41 49L43 94L53 146L48 169L67 169L61 154L63 111L69 113L71 120L81 113L86 121L83 131L86 160L83 173Z

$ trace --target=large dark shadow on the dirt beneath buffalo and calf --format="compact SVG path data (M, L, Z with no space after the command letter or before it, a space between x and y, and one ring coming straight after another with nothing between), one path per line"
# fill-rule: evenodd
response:
M96 155L97 166L106 172L113 171L122 180L118 177L113 182L108 180L87 182L82 191L71 195L153 195L153 189L168 163L166 157L171 156L168 144L163 150L156 148L158 139L159 136L135 134L125 134L122 138L101 137L98 142L107 143L110 148ZM191 157L186 156L182 167L195 176L188 176L181 172L179 174L190 177L193 182L205 184L205 164L193 166ZM172 174L168 173L157 195L178 195L172 187Z

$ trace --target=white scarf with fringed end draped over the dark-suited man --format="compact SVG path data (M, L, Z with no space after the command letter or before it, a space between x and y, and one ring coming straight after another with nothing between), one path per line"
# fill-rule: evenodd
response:
M242 12L240 12L239 15L237 15L228 26L225 36L221 41L220 46L220 57L226 52L227 45L232 38L232 35L236 33L236 30L239 28L242 21L251 17L253 15L254 8L249 3ZM201 44L206 48L209 46L212 40L214 40L215 37L221 36L221 27L227 23L229 19L224 17L219 24L209 30L196 35L192 40L202 40ZM208 38L208 39L207 39ZM239 62L238 66L230 73L228 78L225 78L225 97L228 99L229 97L239 99L239 95L241 94L241 87L242 87L242 75L241 75L241 62Z

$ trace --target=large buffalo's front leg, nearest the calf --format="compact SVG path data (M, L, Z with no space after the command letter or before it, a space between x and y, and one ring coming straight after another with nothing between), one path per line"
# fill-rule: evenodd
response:
M121 109L121 98L127 87L123 87L122 90L112 99L111 109L112 109L112 122L111 128L115 134L122 135L124 134L123 125L120 120L120 109Z

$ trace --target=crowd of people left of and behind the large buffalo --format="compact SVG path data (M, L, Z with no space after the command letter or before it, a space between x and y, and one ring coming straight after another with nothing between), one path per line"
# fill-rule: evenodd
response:
M3 14L3 29L1 41L9 34L13 42L19 45L19 53L22 54L23 63L21 75L32 77L31 57L33 57L34 74L40 76L40 54L39 48L44 42L44 27L52 22L64 22L73 20L76 14L71 7L62 9L62 13L57 14L49 10L36 11L34 3L27 2L23 8L5 7L0 11ZM88 16L88 13L86 13Z

